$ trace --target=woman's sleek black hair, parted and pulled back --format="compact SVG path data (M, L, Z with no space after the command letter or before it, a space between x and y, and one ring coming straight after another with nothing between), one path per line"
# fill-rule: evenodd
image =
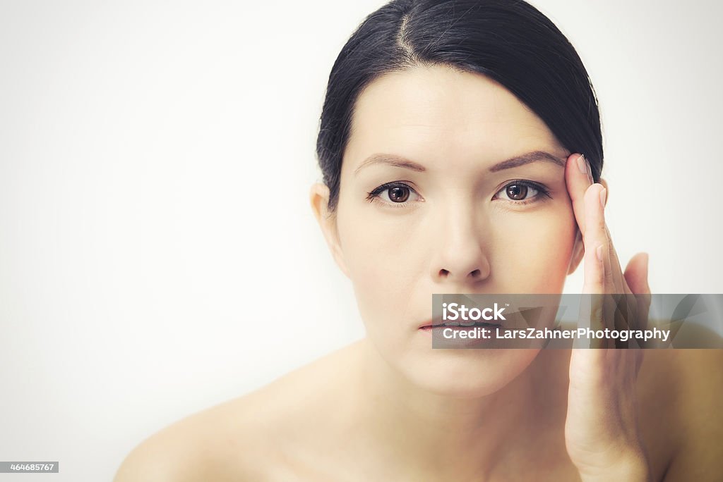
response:
M575 48L550 19L523 0L393 0L361 22L329 75L317 157L332 213L356 99L382 74L419 65L446 65L499 82L562 146L585 154L599 181L597 97Z

